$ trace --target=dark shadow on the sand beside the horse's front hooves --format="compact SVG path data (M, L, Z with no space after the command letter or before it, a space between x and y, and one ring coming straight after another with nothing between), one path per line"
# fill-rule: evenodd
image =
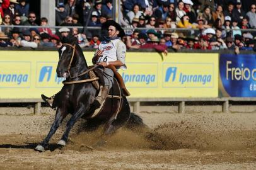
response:
M1 144L0 148L6 148L6 149L32 149L34 150L35 147L37 147L37 143L25 143L25 145L13 145L13 144ZM61 147L57 144L49 144L47 150L50 150L51 152L56 149L61 149Z

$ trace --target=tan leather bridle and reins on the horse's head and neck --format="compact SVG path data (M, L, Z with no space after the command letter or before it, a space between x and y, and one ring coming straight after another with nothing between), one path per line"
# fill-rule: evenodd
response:
M71 68L71 64L72 64L72 61L74 59L74 52L76 50L76 45L70 45L69 43L63 43L63 45L68 45L69 47L73 48L73 53L72 53L72 56L71 56L71 60L69 62L69 66L67 67L67 72L69 73L69 76L71 77L71 79L74 79L74 78L77 78L79 76L83 76L84 74L94 70L96 67L98 67L98 64L95 64L93 65L93 67L91 67L90 69L82 72L81 74L78 74L78 76L71 76L70 74L70 68ZM81 80L81 81L62 81L63 84L76 84L76 83L80 83L80 82L90 82L90 81L96 81L98 80L98 77L96 78L93 78L93 79L86 79L86 80Z

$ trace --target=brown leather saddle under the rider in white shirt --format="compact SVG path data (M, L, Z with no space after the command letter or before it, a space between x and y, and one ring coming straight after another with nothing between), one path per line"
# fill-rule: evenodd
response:
M130 96L131 93L129 93L129 91L125 87L124 80L123 80L122 76L119 74L119 72L117 72L117 70L115 69L115 66L108 65L107 67L108 67L108 69L112 69L112 71L114 73L114 77L117 79L117 82L119 82L120 88L122 89L124 96ZM93 86L99 91L100 86L104 86L104 79L103 79L102 71L100 71L99 69L93 69L93 71L89 72L89 76L90 76L90 79L93 79L96 77L99 78L98 81L92 82Z

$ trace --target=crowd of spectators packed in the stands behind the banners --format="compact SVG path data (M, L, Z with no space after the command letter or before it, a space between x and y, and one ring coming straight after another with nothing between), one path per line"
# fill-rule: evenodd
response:
M168 48L255 50L255 0L120 2L118 21L125 28L123 40L128 49L154 48L165 54ZM107 36L104 23L113 20L112 0L56 0L55 3L55 25L63 26L59 30L15 27L47 26L48 20L37 18L26 0L0 0L0 24L10 26L1 27L0 47L61 47L62 38L72 34L78 38L80 47L97 48ZM96 26L102 30L68 26Z

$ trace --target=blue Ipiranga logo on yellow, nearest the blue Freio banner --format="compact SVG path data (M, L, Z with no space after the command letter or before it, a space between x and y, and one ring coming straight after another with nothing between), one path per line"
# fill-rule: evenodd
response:
M165 65L167 66L167 65ZM212 86L213 68L203 64L172 64L165 67L164 87L207 87Z

